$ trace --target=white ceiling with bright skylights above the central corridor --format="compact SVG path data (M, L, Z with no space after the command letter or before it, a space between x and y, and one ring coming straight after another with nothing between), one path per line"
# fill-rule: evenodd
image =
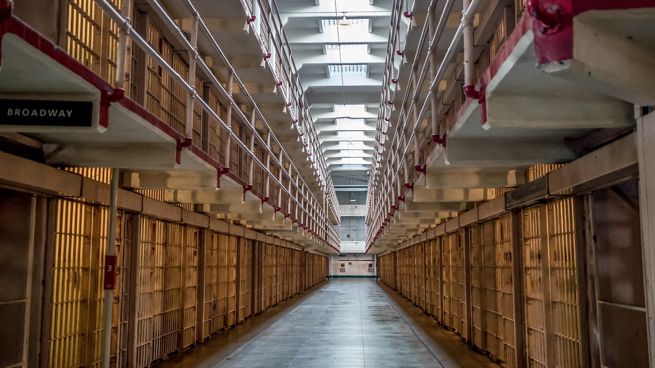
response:
M327 168L362 175L375 152L391 0L278 0ZM339 22L346 16L350 28Z

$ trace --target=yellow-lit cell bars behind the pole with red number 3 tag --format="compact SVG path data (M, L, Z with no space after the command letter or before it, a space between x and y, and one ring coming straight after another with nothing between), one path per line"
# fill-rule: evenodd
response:
M56 229L52 263L52 298L49 367L96 367L100 365L102 335L103 264L107 244L105 207L69 200L56 201ZM118 267L114 291L113 339L115 361L124 361L128 267L124 266L124 214L117 221Z

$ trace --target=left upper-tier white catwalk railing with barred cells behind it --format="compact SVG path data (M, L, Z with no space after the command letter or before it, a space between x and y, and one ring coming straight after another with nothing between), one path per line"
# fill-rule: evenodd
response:
M223 166L223 174L231 171L243 179L244 190L261 193L265 202L290 213L320 238L339 243L326 212L339 218L333 185L322 155L312 155L318 145L306 149L317 175L324 178L322 202L276 138L191 1L183 1L193 20L188 37L156 0L147 1L148 12L137 10L127 0L69 0L67 5L65 43L71 56L107 81L117 83L118 88L124 87L126 97L193 139L191 144ZM198 53L198 39L211 45L210 50L204 50L208 54ZM219 60L229 71L226 81L221 81L206 64L207 56ZM235 90L246 97L246 111L234 100ZM292 114L297 111L291 109ZM263 128L255 128L255 122L258 126L261 122ZM298 126L299 131L309 132L312 127L303 126Z

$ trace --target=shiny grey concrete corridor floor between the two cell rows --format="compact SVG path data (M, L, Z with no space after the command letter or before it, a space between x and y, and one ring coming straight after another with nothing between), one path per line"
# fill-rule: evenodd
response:
M499 367L372 279L336 279L155 367Z

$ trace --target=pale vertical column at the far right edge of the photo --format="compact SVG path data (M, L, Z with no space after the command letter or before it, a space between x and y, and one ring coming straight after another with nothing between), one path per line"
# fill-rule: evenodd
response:
M641 114L639 114L641 115ZM637 118L639 212L644 262L649 366L655 367L655 113Z

